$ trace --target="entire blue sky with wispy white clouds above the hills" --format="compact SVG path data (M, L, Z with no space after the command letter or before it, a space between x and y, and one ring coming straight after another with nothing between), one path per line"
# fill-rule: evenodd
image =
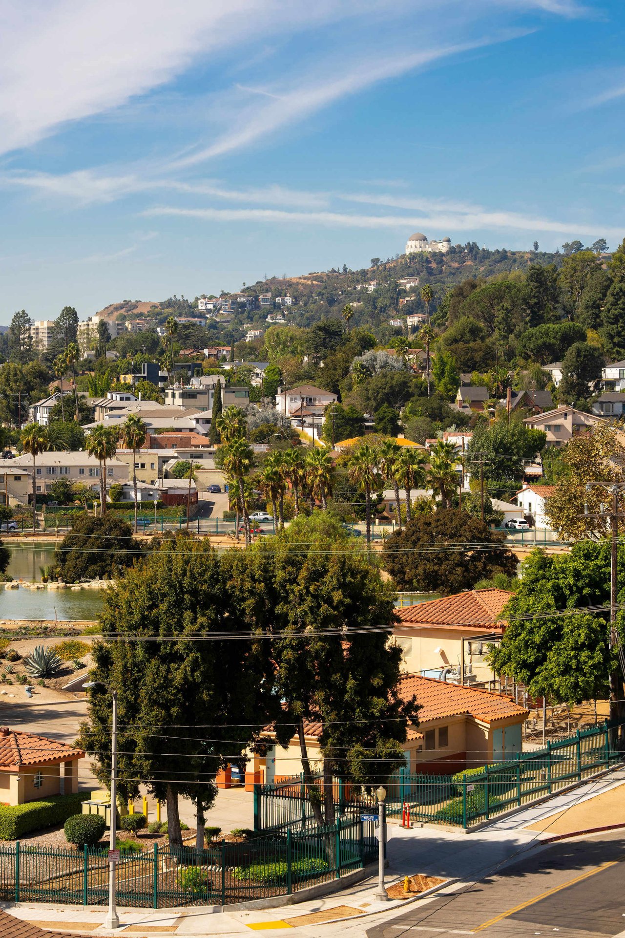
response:
M0 324L625 234L622 0L0 10Z

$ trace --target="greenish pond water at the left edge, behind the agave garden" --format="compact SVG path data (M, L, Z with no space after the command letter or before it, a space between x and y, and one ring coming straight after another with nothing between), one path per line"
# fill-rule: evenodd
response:
M52 564L54 548L51 545L4 542L11 552L7 573L14 580L41 580L39 567ZM95 590L16 589L0 587L0 619L58 619L75 622L96 619L102 608L101 594Z

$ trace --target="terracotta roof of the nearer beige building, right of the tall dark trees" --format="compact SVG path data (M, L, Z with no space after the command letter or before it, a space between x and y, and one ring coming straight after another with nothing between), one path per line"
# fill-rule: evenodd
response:
M407 674L401 679L399 694L405 700L415 696L420 705L419 726L434 719L445 719L467 714L473 719L492 723L508 717L525 718L528 711L510 697L495 694L481 688L463 688L456 684L446 684L434 677L421 677L419 674Z

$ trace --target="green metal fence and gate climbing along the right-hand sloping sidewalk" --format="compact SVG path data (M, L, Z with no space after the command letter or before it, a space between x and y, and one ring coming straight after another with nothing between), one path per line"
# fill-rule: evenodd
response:
M409 773L404 768L386 783L387 817L399 818L405 806L412 822L468 829L502 811L554 794L575 781L618 764L625 749L625 725L606 720L543 749L518 752L510 762L452 775ZM320 777L316 779L320 785ZM254 827L259 831L308 830L314 825L304 778L255 785ZM377 810L374 794L333 783L336 816L344 821Z

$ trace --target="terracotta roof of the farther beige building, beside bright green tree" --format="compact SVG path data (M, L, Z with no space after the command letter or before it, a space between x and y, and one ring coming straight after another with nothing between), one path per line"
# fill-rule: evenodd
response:
M505 589L472 589L397 609L400 623L417 626L497 627L501 610L513 596Z

